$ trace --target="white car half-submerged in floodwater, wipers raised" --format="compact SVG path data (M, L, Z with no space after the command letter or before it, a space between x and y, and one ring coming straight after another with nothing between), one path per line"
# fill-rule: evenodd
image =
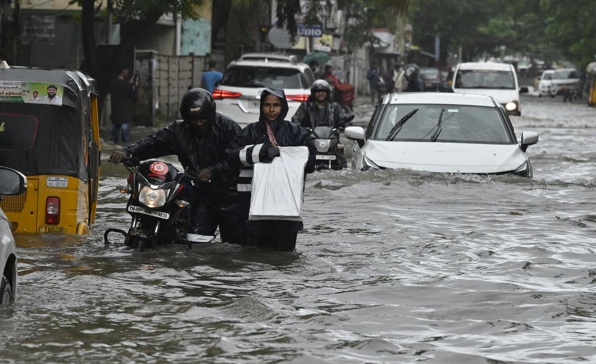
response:
M411 169L437 173L507 174L532 178L526 148L538 133L517 141L499 102L481 95L387 94L366 130L346 127L357 142L352 168Z

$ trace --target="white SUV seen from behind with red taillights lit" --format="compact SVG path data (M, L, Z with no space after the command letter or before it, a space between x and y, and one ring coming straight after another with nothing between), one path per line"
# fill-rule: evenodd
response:
M290 120L302 101L311 95L315 76L296 56L247 53L232 61L218 82L213 98L216 110L234 119L241 127L259 120L260 93L266 87L283 88L288 99Z

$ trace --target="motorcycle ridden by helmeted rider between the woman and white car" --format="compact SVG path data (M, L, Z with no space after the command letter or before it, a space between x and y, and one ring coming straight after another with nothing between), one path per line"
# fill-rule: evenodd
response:
M314 130L310 127L306 128L306 131L311 135L315 142L315 170L338 170L347 167L346 158L343 157L345 145L340 143L339 134L343 131L346 124L353 119L354 115L349 114L346 115L346 117L337 124L337 127L334 128L329 126L317 126Z

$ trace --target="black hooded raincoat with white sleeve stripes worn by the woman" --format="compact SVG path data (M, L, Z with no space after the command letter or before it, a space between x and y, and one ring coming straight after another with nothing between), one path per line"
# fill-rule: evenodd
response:
M226 160L232 166L241 167L240 178L238 179L238 200L240 202L240 223L243 226L244 234L248 235L290 235L295 234L303 228L302 222L288 220L256 220L247 222L250 208L250 191L253 176L253 164L259 162L270 163L274 157L280 155L267 136L266 118L263 114L263 101L269 94L281 99L281 113L275 122L270 125L275 135L275 141L280 147L305 146L309 149L309 158L306 163L305 172L315 171L316 148L311 136L304 128L296 123L284 120L288 113L288 102L283 89L266 88L260 98L259 121L246 127L234 138L226 149ZM248 239L250 242L250 239ZM294 245L296 244L294 238ZM275 247L272 247L275 248ZM293 249L293 247L292 247Z

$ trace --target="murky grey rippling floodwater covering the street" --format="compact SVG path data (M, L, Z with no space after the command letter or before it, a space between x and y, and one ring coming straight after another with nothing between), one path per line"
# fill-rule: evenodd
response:
M534 180L314 173L294 253L105 247L104 164L89 237L17 237L0 363L596 362L596 109L522 102Z

